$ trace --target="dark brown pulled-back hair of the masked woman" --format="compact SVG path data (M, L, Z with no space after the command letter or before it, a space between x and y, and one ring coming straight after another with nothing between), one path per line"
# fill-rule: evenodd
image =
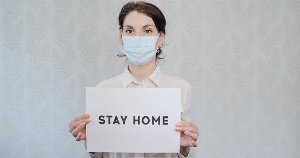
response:
M120 29L123 30L124 19L132 11L137 11L139 13L145 14L148 17L151 17L158 32L163 32L164 34L166 34L166 30L165 30L166 19L164 14L155 5L144 1L128 2L122 7L118 18ZM156 52L156 59L164 58L164 57L163 58L158 57L162 52L163 51L161 50L161 48L158 47ZM125 56L125 55L119 54L118 56Z

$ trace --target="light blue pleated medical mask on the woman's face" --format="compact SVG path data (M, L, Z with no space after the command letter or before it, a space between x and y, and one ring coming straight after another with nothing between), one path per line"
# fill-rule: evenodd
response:
M122 36L123 53L135 65L146 65L153 59L158 49L155 48L158 36Z

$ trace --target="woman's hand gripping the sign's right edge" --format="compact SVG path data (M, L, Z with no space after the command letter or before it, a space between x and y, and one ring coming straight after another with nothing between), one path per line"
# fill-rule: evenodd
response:
M192 122L181 121L176 124L176 131L180 131L181 147L197 147L198 126Z

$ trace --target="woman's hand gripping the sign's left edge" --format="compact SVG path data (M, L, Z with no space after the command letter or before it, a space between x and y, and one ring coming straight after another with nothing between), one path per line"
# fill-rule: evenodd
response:
M69 122L69 132L75 137L76 141L86 140L86 124L89 123L89 114L75 117Z

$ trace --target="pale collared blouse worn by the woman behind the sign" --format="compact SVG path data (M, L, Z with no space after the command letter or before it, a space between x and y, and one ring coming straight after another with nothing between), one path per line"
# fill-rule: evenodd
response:
M129 73L128 66L124 72L109 80L105 80L97 84L96 87L124 87L124 88L181 88L181 119L183 121L193 122L194 106L193 106L193 89L191 84L182 78L174 77L163 73L158 65L154 72L142 82L137 82L135 78ZM166 94L167 95L167 94ZM174 125L175 126L175 125ZM154 144L155 145L155 144ZM85 148L85 147L84 147ZM183 158L180 153L107 153L96 152L89 153L85 149L86 157L102 157L102 158L154 158L165 157ZM189 157L191 154L187 157Z

